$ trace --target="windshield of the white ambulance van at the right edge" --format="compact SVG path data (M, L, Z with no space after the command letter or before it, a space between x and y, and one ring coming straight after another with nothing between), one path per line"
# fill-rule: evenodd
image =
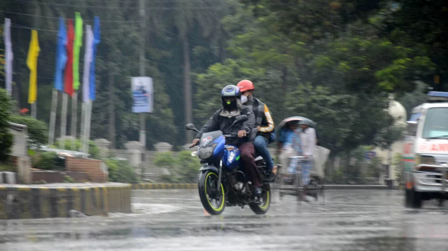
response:
M448 107L428 109L422 138L448 139Z

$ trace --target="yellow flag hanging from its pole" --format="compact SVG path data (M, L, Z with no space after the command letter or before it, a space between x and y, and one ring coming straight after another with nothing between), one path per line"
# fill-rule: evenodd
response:
M29 89L28 103L32 104L37 99L37 57L39 57L40 47L37 38L37 31L31 30L31 41L29 42L28 57L26 65L29 69Z

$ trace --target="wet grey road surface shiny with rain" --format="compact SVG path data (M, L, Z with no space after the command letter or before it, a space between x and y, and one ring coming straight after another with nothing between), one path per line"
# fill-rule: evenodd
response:
M130 215L0 221L0 251L448 251L448 208L405 209L401 191L327 191L325 204L287 196L265 216L205 216L196 190L132 199Z

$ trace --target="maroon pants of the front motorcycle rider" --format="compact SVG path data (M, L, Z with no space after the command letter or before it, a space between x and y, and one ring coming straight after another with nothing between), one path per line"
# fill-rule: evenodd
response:
M261 175L255 164L255 148L252 142L242 143L239 147L241 151L241 162L244 165L244 172L255 187L262 186Z

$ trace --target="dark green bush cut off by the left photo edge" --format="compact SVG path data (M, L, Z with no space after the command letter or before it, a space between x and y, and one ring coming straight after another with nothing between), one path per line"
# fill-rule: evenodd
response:
M5 161L11 150L13 136L9 133L11 99L6 90L0 89L0 161Z

